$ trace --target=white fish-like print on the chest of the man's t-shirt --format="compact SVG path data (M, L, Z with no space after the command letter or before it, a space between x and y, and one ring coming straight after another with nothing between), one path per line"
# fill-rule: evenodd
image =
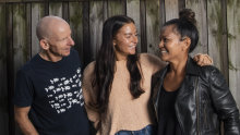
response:
M83 106L82 75L79 68L70 77L55 77L50 85L45 88L51 108L58 113L63 113L73 106Z

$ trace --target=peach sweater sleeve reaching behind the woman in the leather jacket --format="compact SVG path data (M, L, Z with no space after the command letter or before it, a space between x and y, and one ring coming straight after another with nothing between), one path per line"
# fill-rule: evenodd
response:
M141 53L140 61L141 64L144 64L152 71L152 74L155 74L157 71L167 65L167 63L161 61L158 57L149 53Z

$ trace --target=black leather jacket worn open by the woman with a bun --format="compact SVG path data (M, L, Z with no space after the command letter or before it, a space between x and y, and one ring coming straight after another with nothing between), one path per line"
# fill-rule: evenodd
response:
M158 119L158 97L169 65L152 77L152 99ZM199 66L189 57L179 89L176 115L184 135L240 135L239 111L223 74L214 66Z

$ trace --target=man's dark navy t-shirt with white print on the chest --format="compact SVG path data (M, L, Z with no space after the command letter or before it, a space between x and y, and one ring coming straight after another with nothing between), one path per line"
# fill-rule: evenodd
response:
M36 54L16 75L13 102L31 107L29 119L40 135L88 135L79 53L58 62Z

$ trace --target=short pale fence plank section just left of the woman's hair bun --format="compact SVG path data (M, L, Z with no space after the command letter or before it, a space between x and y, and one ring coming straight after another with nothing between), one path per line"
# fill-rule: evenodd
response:
M171 19L178 19L179 13L179 0L165 0L166 21Z

